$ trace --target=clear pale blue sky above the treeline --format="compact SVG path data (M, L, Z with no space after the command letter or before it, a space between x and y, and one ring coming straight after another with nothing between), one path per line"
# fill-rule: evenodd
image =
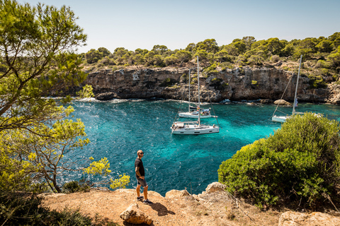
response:
M151 50L156 44L185 49L215 39L278 37L302 40L340 32L340 0L18 0L60 8L70 6L87 35L78 52L106 47Z

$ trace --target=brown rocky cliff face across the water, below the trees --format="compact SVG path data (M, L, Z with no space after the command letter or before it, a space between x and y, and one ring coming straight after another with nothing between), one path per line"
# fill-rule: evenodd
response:
M84 83L92 85L98 100L113 98L166 98L188 100L188 68L101 69L89 72ZM194 72L196 73L196 72ZM195 78L196 77L196 78ZM296 74L277 68L235 68L200 72L201 101L277 100L293 101ZM291 81L290 81L291 80ZM191 100L198 97L197 76L191 71ZM297 95L303 102L340 104L340 85L311 89L310 79L300 76Z

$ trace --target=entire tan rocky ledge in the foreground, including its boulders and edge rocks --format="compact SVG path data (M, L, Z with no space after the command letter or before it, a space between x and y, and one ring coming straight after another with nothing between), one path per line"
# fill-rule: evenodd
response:
M135 189L91 190L74 194L45 194L43 206L77 209L92 217L101 216L118 225L340 225L334 210L276 208L259 210L225 191L225 185L209 184L202 194L171 190L163 197L149 191L152 205L136 201Z

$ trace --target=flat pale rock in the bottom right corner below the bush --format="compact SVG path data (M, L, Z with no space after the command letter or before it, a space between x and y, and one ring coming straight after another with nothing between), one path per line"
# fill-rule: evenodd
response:
M285 212L280 216L278 220L278 226L337 226L340 225L340 220L327 213L295 213L295 212Z

